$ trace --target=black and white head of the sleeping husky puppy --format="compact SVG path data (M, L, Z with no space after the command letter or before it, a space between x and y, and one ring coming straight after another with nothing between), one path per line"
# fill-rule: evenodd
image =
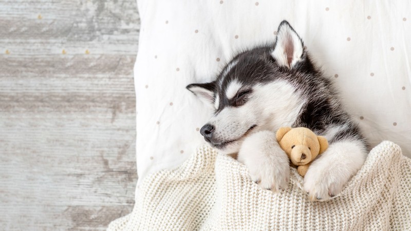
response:
M277 129L281 124L273 124L273 117L285 113L281 107L293 105L278 105L282 103L277 103L276 98L287 97L294 88L276 80L309 71L314 71L314 67L303 41L283 21L273 46L242 52L215 81L186 87L214 110L213 117L200 129L204 140L220 151L233 153L249 134Z

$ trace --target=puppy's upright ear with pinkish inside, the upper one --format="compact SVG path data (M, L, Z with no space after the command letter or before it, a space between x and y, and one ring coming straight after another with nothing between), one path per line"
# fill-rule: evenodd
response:
M287 21L281 22L278 26L274 50L271 52L278 65L292 69L302 60L303 52L303 40Z

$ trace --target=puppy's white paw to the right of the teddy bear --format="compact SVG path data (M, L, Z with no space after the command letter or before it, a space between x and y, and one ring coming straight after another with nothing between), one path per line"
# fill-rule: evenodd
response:
M355 141L331 144L308 168L304 190L311 201L326 201L338 195L365 161L363 146Z

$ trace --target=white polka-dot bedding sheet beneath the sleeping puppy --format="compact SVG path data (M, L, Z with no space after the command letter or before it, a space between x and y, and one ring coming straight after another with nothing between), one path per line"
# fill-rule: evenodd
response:
M411 1L148 1L135 66L137 169L179 165L204 143L211 111L185 89L208 82L241 49L273 43L287 20L374 146L411 157Z

